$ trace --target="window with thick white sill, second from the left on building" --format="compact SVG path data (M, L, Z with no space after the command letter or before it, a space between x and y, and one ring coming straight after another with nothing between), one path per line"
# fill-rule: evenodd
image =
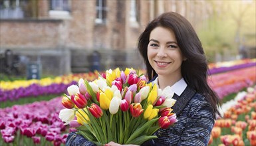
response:
M49 15L51 18L70 18L70 0L51 0Z

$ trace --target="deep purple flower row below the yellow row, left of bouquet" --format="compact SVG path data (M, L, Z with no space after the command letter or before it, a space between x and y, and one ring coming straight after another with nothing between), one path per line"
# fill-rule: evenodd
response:
M72 84L76 84L76 82L73 81L70 84L51 84L49 86L31 84L26 88L21 87L13 90L0 89L0 102L5 102L7 100L15 101L20 98L28 97L59 95L66 93L66 88Z

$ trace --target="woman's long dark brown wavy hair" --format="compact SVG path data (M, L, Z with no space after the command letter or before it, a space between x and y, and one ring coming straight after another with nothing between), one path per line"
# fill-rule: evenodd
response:
M168 12L156 17L156 19L148 24L139 37L138 50L144 58L148 79L151 80L157 75L148 61L150 33L156 27L164 27L174 31L178 46L180 46L182 54L187 58L187 60L182 62L182 76L189 86L205 96L211 104L214 117L216 118L216 113L220 115L217 109L219 98L207 84L208 66L201 41L190 22L178 13Z

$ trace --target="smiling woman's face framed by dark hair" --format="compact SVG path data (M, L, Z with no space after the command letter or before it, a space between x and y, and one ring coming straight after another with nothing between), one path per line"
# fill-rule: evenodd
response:
M148 60L158 76L182 77L184 56L174 32L165 27L156 27L150 33Z

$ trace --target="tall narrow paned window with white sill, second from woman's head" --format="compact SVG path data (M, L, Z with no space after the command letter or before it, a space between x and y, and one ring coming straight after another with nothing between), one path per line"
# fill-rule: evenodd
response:
M95 23L106 23L106 0L96 0Z

